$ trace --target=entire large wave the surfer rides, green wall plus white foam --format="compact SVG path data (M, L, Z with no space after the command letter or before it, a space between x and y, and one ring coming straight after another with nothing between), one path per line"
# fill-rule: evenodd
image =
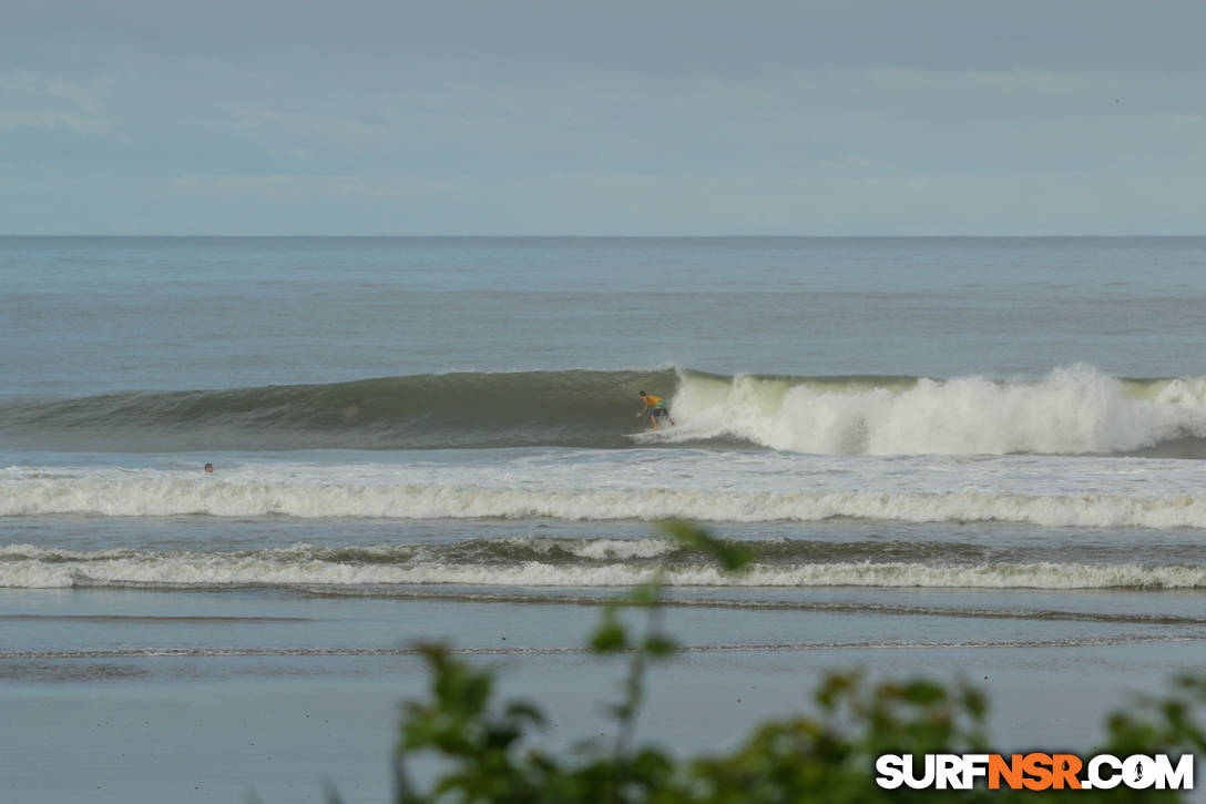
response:
M76 451L620 448L637 391L672 396L658 444L814 454L1206 458L1206 377L1090 366L984 377L725 377L690 369L453 373L0 403L0 447Z

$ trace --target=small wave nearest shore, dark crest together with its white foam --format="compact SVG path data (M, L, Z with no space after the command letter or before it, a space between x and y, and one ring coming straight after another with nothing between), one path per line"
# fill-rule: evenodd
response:
M453 544L394 544L199 552L0 547L0 587L146 589L628 587L655 570L673 587L929 587L984 589L1201 589L1200 565L1001 560L971 544L743 542L755 561L727 575L663 540L519 537ZM374 589L375 588L375 589Z

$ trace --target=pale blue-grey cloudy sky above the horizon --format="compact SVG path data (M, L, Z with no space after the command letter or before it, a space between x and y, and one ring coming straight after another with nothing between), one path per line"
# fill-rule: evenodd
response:
M0 234L1206 235L1201 0L0 6Z

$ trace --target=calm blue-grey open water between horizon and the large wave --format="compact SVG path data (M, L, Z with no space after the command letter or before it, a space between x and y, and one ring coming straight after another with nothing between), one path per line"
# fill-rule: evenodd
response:
M1202 238L8 237L0 395L673 366L1196 377L1204 254Z

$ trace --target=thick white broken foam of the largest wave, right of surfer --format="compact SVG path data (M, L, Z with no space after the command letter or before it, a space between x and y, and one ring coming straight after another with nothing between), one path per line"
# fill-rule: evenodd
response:
M1130 383L1085 365L1041 380L915 384L684 374L673 413L683 427L668 441L736 436L819 454L1126 453L1206 436L1206 378Z

